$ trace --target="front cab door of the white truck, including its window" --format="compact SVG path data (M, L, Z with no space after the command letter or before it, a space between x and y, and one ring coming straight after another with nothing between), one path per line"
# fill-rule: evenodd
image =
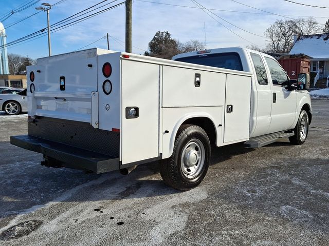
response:
M265 56L272 90L271 124L268 133L291 129L296 118L296 90L286 89L288 76L279 63Z

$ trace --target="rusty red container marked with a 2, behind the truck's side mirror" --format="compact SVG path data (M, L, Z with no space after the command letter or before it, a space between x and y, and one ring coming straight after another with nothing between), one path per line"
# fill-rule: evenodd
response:
M278 60L291 79L298 79L298 74L310 71L310 56L304 54L282 55Z

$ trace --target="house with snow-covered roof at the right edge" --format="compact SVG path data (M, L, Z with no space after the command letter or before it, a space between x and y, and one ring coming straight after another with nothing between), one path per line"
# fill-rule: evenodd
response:
M290 54L304 53L310 59L310 71L317 73L315 87L328 87L329 83L329 33L303 35L295 39Z

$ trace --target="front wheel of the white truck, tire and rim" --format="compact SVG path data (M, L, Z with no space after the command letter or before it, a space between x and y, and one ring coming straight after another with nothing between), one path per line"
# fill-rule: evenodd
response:
M308 115L305 110L300 112L297 125L294 129L295 135L289 137L289 141L293 145L304 144L308 134Z

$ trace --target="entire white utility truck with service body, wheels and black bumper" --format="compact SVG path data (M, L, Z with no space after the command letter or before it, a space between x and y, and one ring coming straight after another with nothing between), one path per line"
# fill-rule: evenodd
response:
M308 74L290 80L243 48L173 60L95 48L40 58L27 74L28 135L11 144L42 153L44 166L96 173L161 160L181 191L205 177L210 144L301 145L312 120Z

